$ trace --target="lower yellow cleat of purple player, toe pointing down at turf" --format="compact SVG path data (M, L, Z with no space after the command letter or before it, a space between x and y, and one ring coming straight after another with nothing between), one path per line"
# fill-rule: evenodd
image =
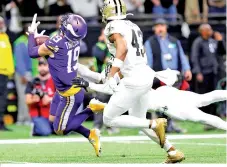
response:
M94 147L96 156L100 157L101 155L100 130L91 129L88 140Z

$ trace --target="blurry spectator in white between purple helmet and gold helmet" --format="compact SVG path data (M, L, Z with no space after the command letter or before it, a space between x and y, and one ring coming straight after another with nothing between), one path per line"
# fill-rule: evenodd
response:
M95 17L99 15L100 0L68 0L68 2L72 6L74 13L89 17L89 19L86 18L87 22L97 23L97 18Z

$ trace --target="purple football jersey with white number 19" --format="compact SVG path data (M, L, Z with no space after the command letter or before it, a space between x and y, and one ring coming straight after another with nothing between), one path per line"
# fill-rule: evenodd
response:
M47 59L50 74L58 91L68 90L71 81L77 76L77 60L80 53L80 41L68 41L65 37L55 35L45 42L53 52Z

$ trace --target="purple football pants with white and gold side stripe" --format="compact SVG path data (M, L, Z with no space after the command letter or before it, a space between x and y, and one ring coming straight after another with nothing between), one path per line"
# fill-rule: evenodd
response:
M93 113L90 108L78 113L78 108L83 103L83 99L84 89L69 97L63 97L57 92L55 93L51 103L50 114L55 116L53 127L57 134L66 135L74 131L86 138L89 137L90 130L81 124Z

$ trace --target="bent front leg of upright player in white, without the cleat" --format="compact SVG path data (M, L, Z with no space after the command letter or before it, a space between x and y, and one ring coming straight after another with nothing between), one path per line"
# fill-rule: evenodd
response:
M122 115L130 109L146 90L129 89L121 85L114 93L104 109L103 122L105 125L117 128L156 128L152 120L142 119L130 115ZM138 111L139 112L139 111Z

